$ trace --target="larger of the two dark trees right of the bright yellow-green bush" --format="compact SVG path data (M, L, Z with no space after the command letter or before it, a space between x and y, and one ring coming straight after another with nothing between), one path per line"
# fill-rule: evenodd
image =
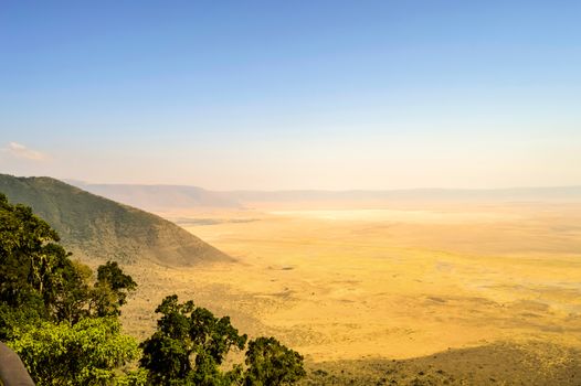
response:
M243 350L247 336L240 335L229 317L215 318L193 302L169 296L156 309L161 313L157 331L141 343L142 367L157 385L231 385L239 367L223 373L220 364L231 349Z

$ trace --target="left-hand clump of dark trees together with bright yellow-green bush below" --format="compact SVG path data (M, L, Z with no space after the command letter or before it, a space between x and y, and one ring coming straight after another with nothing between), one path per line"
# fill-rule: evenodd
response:
M139 356L115 318L135 281L108 262L92 286L91 269L70 256L49 224L0 194L0 339L38 385L102 385Z

